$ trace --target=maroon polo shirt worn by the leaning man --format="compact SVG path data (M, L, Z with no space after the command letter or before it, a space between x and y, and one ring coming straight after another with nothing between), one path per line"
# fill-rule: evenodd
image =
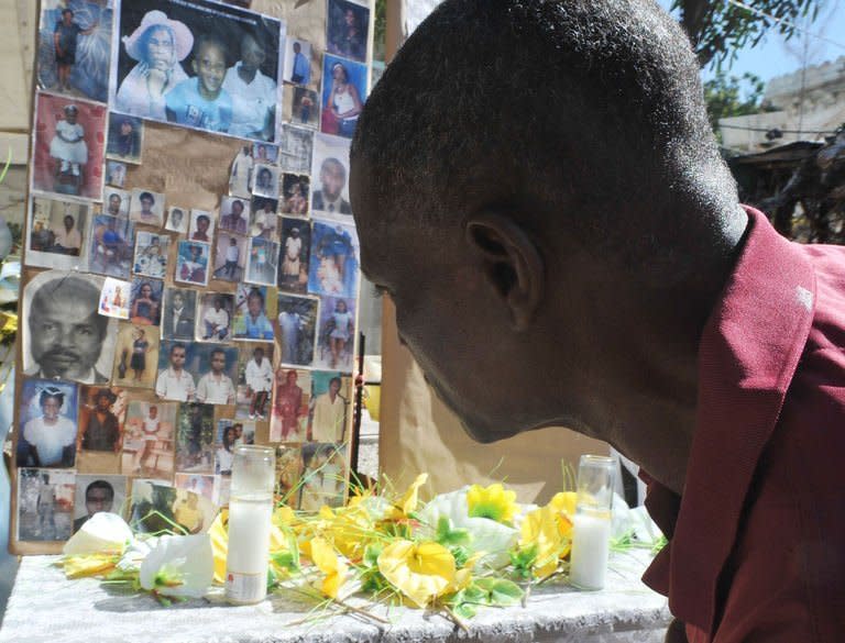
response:
M749 230L699 350L683 496L644 580L690 643L845 641L845 247Z

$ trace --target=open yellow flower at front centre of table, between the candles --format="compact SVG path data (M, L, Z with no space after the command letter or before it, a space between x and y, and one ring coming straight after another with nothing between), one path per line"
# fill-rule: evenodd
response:
M420 608L447 594L456 583L454 556L431 541L391 543L378 555L378 570Z

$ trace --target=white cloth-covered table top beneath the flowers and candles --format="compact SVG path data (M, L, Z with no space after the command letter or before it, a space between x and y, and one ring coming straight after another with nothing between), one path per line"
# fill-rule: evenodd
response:
M639 581L648 559L645 551L613 554L604 590L540 586L526 608L481 610L465 633L441 616L384 606L370 611L389 625L352 616L303 623L312 605L289 595L250 607L212 595L165 608L97 579L66 580L51 566L55 557L30 556L18 573L0 643L662 643L671 617L666 598Z

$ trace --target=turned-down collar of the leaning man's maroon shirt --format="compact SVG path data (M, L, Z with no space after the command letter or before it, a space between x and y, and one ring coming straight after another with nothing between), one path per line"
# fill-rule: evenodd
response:
M718 577L815 301L815 276L801 246L762 213L746 210L745 245L699 346L698 417L674 533L644 577L670 590L674 616L705 631L716 625ZM657 490L655 505L662 505L660 497L671 503L666 489ZM669 586L660 587L666 572Z

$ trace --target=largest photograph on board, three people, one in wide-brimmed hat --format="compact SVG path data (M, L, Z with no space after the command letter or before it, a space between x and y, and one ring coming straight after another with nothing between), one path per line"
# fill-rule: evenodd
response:
M272 141L278 20L208 0L134 0L118 15L111 104L186 128Z

